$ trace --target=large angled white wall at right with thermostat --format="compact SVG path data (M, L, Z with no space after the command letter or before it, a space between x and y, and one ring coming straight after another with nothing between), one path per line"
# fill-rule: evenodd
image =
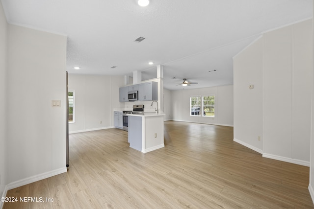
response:
M311 34L312 20L278 28L234 57L234 137L264 157L309 165Z

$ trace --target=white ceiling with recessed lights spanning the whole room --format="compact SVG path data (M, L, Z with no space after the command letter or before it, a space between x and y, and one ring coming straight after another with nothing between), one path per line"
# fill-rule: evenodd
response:
M313 16L312 0L150 1L1 0L8 23L67 35L70 73L140 70L144 80L162 65L169 90L183 78L198 82L185 89L233 84L235 54L263 31Z

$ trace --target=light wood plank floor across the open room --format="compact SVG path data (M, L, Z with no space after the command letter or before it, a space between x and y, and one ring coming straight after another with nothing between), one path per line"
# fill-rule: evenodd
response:
M53 198L4 209L314 208L309 167L262 158L233 141L233 128L165 122L165 147L143 154L119 129L70 135L67 173L11 189Z

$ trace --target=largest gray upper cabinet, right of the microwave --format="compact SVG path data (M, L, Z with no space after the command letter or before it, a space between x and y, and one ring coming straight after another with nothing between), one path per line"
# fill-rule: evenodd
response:
M138 100L139 101L158 100L158 83L151 81L138 84Z

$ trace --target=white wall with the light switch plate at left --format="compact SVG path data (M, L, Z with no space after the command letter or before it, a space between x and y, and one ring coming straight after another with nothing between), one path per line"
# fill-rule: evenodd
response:
M10 188L66 171L66 37L9 24L7 57Z

